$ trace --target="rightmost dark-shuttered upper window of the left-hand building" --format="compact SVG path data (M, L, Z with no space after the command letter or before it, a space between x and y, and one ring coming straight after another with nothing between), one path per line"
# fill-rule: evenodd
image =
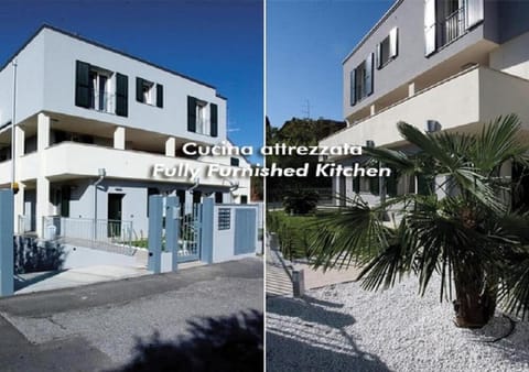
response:
M195 97L187 96L187 131L218 135L218 107Z

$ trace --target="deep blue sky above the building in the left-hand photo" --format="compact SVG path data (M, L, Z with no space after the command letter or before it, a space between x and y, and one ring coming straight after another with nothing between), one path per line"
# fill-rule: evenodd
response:
M256 0L2 0L0 63L42 23L78 33L215 86L228 136L260 147L262 22Z

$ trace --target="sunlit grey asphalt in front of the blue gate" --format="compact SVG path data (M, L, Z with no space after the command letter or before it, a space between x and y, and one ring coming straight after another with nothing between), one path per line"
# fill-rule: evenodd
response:
M100 371L130 361L139 338L173 340L188 320L263 308L262 261L0 299L2 371Z

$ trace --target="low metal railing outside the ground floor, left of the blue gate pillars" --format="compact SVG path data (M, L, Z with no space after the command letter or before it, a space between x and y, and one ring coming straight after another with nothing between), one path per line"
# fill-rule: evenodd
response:
M94 220L88 218L43 217L44 239L85 240L96 243L130 247L132 221Z

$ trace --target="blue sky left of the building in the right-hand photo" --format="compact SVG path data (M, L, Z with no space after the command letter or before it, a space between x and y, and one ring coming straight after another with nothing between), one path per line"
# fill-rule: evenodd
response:
M267 116L343 120L342 61L393 0L267 3Z

